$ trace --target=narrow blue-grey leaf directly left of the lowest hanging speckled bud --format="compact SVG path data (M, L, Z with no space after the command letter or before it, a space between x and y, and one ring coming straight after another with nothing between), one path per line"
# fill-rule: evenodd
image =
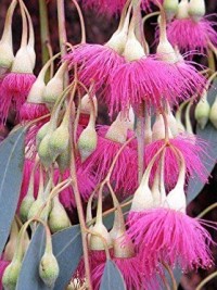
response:
M16 290L49 290L39 276L39 264L46 249L46 230L38 226L24 256Z

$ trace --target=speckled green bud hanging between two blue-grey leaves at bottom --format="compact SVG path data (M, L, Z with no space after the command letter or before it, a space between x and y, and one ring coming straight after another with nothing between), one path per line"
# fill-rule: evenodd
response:
M60 269L55 256L52 253L44 253L39 265L39 275L46 286L54 287Z

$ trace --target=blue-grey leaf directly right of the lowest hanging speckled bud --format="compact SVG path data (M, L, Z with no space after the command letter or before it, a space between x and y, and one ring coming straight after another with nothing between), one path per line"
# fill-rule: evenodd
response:
M53 254L60 266L60 275L55 281L54 290L65 289L82 255L79 225L54 234L52 243Z

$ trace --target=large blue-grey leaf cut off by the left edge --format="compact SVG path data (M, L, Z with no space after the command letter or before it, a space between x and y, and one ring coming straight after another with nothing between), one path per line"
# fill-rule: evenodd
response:
M18 202L25 133L26 128L18 128L0 144L0 254L9 237Z

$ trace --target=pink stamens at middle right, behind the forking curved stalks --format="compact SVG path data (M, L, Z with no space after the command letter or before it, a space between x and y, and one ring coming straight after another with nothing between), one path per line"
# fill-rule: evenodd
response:
M164 140L157 140L145 148L145 162L150 163L152 157L156 154L156 152L164 144ZM195 136L191 135L179 135L174 139L170 139L169 142L177 148L183 155L186 160L187 166L187 176L200 176L201 179L205 182L207 181L206 167L202 163L201 157L205 154L207 155L207 143L204 140L195 138ZM176 153L171 149L171 147L166 148L165 159L164 159L164 167L165 167L165 185L168 188L174 187L177 182L179 175L179 163L176 157ZM153 166L153 176L156 172L157 166ZM171 174L173 173L173 174Z

